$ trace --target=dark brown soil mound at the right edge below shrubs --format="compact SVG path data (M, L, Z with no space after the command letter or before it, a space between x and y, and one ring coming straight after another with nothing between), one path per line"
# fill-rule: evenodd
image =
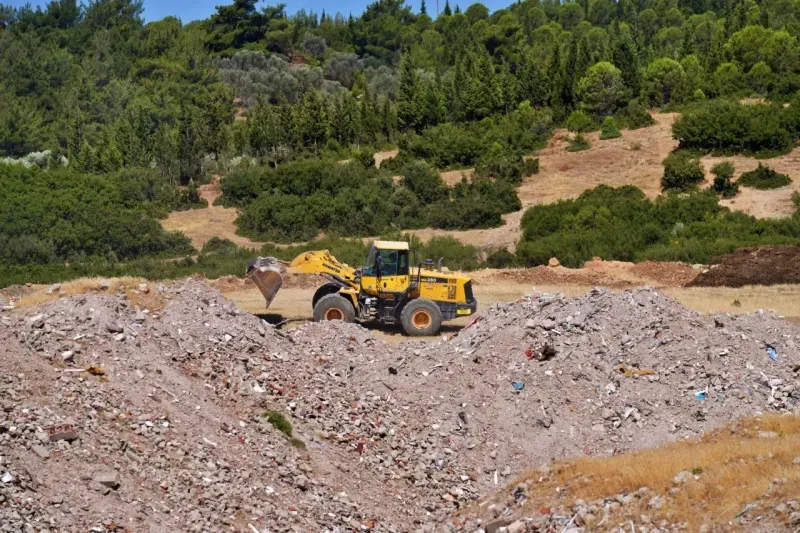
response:
M800 283L800 246L741 248L715 263L689 285L742 287Z

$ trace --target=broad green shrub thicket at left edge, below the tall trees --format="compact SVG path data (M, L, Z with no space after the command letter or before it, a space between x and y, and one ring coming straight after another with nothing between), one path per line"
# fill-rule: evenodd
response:
M174 188L142 170L107 176L0 164L0 264L180 257L189 239L154 218Z

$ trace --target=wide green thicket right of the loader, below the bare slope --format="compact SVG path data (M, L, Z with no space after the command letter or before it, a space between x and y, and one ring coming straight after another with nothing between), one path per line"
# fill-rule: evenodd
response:
M555 256L578 267L594 256L620 261L707 263L744 246L800 243L800 217L759 220L719 205L712 191L648 200L631 186L600 186L574 200L536 205L522 217L520 264Z

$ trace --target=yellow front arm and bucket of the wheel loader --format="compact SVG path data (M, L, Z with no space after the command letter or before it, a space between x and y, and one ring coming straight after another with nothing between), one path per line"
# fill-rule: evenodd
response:
M356 269L337 261L328 250L303 252L288 263L274 257L259 257L247 265L247 277L264 295L267 307L278 294L287 273L319 274L342 287L359 288Z

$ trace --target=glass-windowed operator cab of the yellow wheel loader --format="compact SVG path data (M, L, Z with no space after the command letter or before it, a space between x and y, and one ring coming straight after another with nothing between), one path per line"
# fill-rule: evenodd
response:
M361 290L372 296L404 292L408 288L410 271L407 242L375 241L361 273Z

